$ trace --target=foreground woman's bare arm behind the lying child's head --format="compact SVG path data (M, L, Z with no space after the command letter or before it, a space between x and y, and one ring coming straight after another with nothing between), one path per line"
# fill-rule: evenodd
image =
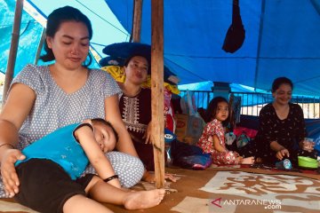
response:
M113 95L105 99L106 120L111 122L119 135L119 141L116 143L116 149L125 154L131 154L138 157L128 131L125 129L124 122L119 111L119 103L117 95Z

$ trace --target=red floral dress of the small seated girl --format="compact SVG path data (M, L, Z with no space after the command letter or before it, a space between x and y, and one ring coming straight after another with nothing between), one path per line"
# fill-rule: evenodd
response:
M219 138L220 145L225 148L226 152L219 152L213 146L213 136L216 135ZM212 122L208 122L205 127L202 136L199 138L198 146L200 146L204 153L212 154L212 163L216 164L238 164L237 154L234 151L228 151L226 148L226 139L223 126L221 122L214 119Z

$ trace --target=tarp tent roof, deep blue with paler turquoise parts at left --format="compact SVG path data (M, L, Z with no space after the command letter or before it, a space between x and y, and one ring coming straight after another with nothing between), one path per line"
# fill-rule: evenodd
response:
M128 40L125 32L132 31L133 0L28 2L44 16L67 4L79 8L92 20L92 46L102 57L105 56L101 53L103 46L95 43L124 42ZM221 46L231 24L232 0L164 0L164 62L180 76L180 83L228 82L269 90L274 78L285 75L295 83L296 94L318 96L320 0L239 2L245 40L243 46L231 54L223 51ZM6 60L3 55L7 56L11 42L11 29L5 26L13 21L15 1L0 0L0 4L0 68L4 72ZM13 8L11 12L8 12L8 5ZM123 28L110 25L116 21L113 16L105 16L108 6ZM38 44L41 36L41 26L28 19L31 20L24 15L16 70L27 63L25 59L34 55L29 49ZM141 43L150 44L150 39L151 1L144 0Z

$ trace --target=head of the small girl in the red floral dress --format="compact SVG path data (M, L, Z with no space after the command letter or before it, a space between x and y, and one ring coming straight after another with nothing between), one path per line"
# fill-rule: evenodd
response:
M211 122L217 119L219 122L228 122L228 100L223 97L215 97L209 103L206 110L205 122Z

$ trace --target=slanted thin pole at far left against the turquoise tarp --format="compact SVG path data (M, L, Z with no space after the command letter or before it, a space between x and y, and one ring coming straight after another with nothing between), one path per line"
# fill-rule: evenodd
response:
M3 106L7 97L10 84L12 83L15 61L17 58L19 36L20 36L20 25L22 18L23 0L17 0L14 12L14 22L12 28L12 43L10 45L9 59L7 69L5 72L4 80L4 95L3 95Z

